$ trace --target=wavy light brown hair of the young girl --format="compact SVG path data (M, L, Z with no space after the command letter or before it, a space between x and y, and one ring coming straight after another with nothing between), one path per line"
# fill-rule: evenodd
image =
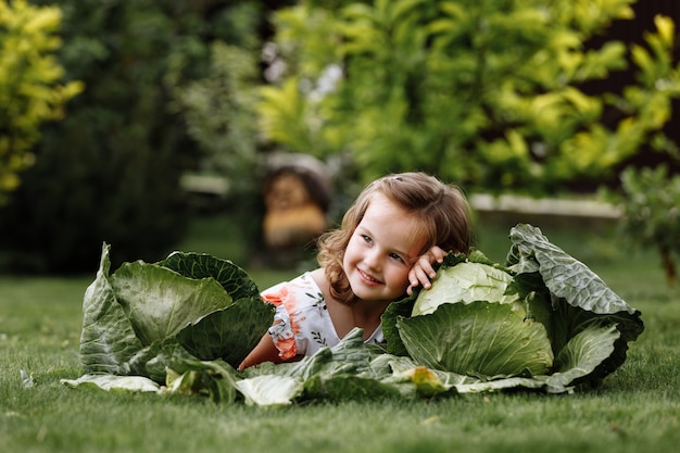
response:
M433 246L445 251L468 253L470 248L469 204L462 190L421 172L383 176L366 186L342 218L339 229L318 239L318 264L338 301L352 303L355 295L342 268L344 250L374 196L381 193L416 217L427 241L419 254Z

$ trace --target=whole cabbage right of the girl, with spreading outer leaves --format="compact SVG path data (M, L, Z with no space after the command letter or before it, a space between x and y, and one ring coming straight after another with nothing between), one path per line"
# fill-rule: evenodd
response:
M599 383L642 332L640 312L539 228L509 237L504 265L479 251L448 255L429 290L391 304L387 352L478 379L466 391Z

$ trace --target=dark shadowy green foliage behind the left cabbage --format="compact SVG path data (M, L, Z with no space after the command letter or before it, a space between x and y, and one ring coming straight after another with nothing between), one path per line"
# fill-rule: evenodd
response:
M66 77L87 88L43 129L36 165L0 212L5 264L91 270L103 241L119 261L161 259L187 225L180 176L204 152L188 133L177 87L206 76L213 41L251 45L260 2L58 3L59 56Z

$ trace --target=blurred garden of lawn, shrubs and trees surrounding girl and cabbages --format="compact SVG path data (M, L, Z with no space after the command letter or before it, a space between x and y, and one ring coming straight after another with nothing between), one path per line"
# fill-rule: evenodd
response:
M0 1L0 446L670 450L679 20L662 0ZM645 332L602 388L559 398L269 412L61 386L102 241L117 263L231 259L261 288L313 265L308 241L263 237L290 154L327 172L330 225L385 173L459 184L482 251L502 261L530 222Z

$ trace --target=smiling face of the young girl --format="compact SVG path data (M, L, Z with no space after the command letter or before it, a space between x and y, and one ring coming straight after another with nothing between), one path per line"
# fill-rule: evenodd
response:
M381 193L370 200L344 251L342 268L354 294L391 301L406 291L408 270L425 246L417 221Z

